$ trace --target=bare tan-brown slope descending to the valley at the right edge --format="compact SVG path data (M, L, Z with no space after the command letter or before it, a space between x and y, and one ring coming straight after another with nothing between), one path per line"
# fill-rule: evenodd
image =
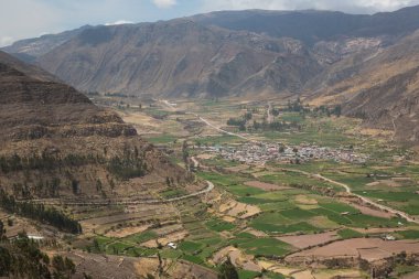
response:
M343 60L305 88L314 104L342 104L365 125L395 131L395 139L419 142L419 31L378 53ZM312 92L314 94L312 94Z

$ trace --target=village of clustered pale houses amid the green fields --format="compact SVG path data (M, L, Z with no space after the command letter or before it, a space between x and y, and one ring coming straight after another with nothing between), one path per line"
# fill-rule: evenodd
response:
M315 144L287 147L282 143L248 142L237 146L201 147L206 152L217 153L223 159L247 164L264 165L268 161L303 163L311 160L365 163L368 155L356 153L352 148L333 149Z

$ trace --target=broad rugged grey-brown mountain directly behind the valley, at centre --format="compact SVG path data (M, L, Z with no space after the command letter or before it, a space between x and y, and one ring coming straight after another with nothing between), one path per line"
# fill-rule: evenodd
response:
M170 97L298 92L321 67L297 40L190 20L88 29L39 63L80 90Z

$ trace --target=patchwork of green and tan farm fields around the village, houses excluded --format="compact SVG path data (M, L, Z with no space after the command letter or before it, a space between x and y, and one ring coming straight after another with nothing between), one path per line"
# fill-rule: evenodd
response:
M173 108L155 103L152 109L139 112L144 115L141 119L149 119L147 125L152 128L143 136L169 150L171 161L191 168L198 179L214 183L215 190L198 198L174 201L160 212L150 207L137 208L141 217L132 215L132 219L118 221L116 217L112 224L99 224L100 216L97 216L94 222L84 221L90 222L92 226L92 238L86 249L94 251L98 248L108 254L129 256L160 255L163 259L182 259L214 270L230 257L240 278L255 278L261 272L264 278L365 278L364 271L353 269L355 264L331 270L319 266L324 262L296 268L284 259L353 239L377 242L383 237L394 237L397 242L410 242L419 238L417 224L359 201L339 184L347 185L354 194L377 204L419 216L419 169L411 160L412 153L379 136L365 135L358 127L358 120L283 111L272 120L293 122L300 129L239 131L228 127L226 120L251 111L253 120L262 121L266 104L224 100L178 100L176 104ZM281 105L273 101L273 106ZM211 125L205 125L201 118ZM240 137L234 133L240 133ZM264 165L247 165L225 160L216 153L219 147L235 147L246 140L286 146L344 147L368 154L369 159L365 163L308 160L302 163L267 161ZM193 157L189 162L183 158L184 141L187 154ZM200 149L203 146L213 147L214 151L203 152ZM322 180L320 175L336 183ZM157 194L172 198L184 192L171 189ZM114 212L118 216L118 208ZM175 249L168 246L170 242L176 244ZM374 265L379 256L374 251L363 255L368 265ZM401 270L404 266L395 268Z

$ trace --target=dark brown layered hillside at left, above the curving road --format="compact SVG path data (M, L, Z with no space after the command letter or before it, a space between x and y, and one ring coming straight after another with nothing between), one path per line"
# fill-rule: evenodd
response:
M0 184L17 198L114 198L186 173L112 111L0 53ZM42 71L41 71L42 72ZM142 192L141 192L142 193Z

